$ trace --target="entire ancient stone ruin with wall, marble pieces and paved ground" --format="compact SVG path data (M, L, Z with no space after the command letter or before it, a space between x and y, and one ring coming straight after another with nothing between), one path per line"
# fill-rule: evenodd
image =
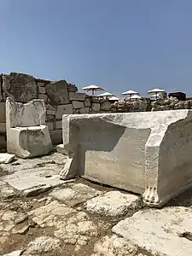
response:
M191 256L191 106L0 75L0 254Z

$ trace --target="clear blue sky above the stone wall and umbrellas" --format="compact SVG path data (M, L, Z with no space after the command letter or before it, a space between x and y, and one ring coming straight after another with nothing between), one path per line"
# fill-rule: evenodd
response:
M0 73L192 96L191 0L0 0Z

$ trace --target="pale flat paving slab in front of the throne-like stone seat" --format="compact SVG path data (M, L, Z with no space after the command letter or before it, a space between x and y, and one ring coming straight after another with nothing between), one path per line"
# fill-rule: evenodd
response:
M2 181L9 183L22 195L39 195L52 187L67 183L61 181L59 176L65 162L66 157L58 153L33 160L17 160L13 164L1 165L3 172L9 169L11 172L10 175L3 176Z

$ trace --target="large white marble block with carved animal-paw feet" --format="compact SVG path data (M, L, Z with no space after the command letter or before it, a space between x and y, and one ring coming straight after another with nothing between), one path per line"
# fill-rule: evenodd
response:
M192 111L63 115L61 178L80 175L160 207L192 186Z

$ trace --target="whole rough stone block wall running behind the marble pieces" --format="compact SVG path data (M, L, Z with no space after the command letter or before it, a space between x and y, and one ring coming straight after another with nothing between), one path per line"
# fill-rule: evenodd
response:
M191 108L191 100L177 99L150 102L149 99L134 102L109 102L96 96L78 92L75 84L66 80L49 81L35 79L23 73L0 74L0 148L6 147L5 101L11 96L16 102L43 99L47 108L47 125L53 143L61 143L61 117L65 113L117 113L145 112L167 109Z

